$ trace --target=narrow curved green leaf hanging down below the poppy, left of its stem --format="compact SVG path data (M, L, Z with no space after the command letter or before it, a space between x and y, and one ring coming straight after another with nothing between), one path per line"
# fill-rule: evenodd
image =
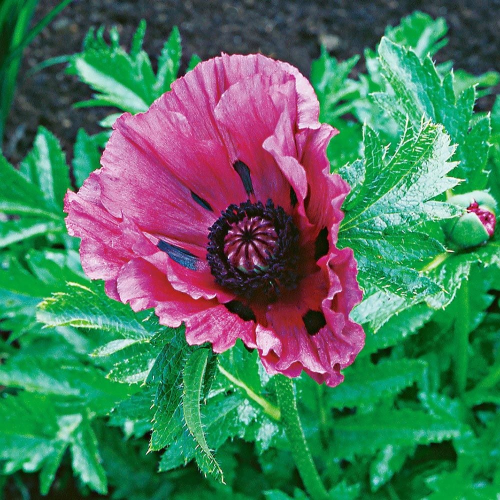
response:
M201 451L201 459L196 456L200 469L205 474L224 482L222 469L208 447L201 424L200 399L208 354L208 349L198 349L187 358L183 374L182 407L187 428Z

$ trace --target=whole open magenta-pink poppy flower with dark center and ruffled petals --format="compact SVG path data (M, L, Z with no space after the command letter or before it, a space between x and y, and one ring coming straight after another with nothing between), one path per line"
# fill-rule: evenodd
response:
M198 64L144 113L123 114L102 168L65 198L83 269L134 310L185 323L190 344L237 338L269 373L334 386L363 346L349 187L329 173L337 130L297 69L262 55Z

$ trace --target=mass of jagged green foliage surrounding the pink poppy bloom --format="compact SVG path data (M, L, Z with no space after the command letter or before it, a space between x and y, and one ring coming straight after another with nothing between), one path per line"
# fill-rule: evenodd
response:
M71 56L69 71L96 92L89 105L138 112L168 90L178 30L154 74L144 29L129 52L115 29L110 43L91 31ZM366 345L342 384L295 382L331 498L500 490L498 236L453 253L439 226L458 213L452 189L500 197L500 100L490 118L474 113L474 85L485 92L496 75L434 66L445 34L442 19L416 12L366 50L366 74L350 78L357 57L325 50L311 69L321 119L340 130L331 168L352 188L339 245L354 249L365 289L352 318ZM82 496L305 500L258 353L189 346L183 326L134 313L83 275L62 198L70 178L80 186L98 168L108 136L78 131L71 176L43 127L18 169L0 158L0 490L20 496L16 484L37 472L53 497L68 496L55 477L72 475Z

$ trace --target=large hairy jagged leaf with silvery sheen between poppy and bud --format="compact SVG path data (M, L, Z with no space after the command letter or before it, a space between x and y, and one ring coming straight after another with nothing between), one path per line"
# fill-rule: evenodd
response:
M455 166L449 161L452 153L442 126L429 121L417 130L406 122L390 156L376 133L364 127L364 174L357 174L358 185L346 198L338 244L354 250L365 288L413 298L438 291L417 269L442 251L424 224L459 213L457 207L432 200L457 183L446 176Z

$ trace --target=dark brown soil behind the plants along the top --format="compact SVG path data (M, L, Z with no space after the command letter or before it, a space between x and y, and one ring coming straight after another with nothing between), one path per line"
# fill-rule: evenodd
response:
M54 4L54 0L40 0L35 20ZM321 43L340 59L362 53L364 47L375 46L387 24L396 25L415 9L443 16L448 23L449 43L438 53L438 61L451 59L455 67L475 74L500 70L500 0L75 0L24 52L5 155L14 163L19 161L39 124L60 138L69 156L78 127L90 133L99 130L96 121L109 110L71 107L90 97L90 91L65 74L64 64L25 77L30 67L44 59L78 51L90 26L116 24L122 43L128 46L144 17L144 46L153 64L176 24L182 36L184 68L192 53L206 59L221 51L262 52L308 75ZM356 69L362 70L362 63ZM478 107L488 110L492 102L491 96L482 98Z

